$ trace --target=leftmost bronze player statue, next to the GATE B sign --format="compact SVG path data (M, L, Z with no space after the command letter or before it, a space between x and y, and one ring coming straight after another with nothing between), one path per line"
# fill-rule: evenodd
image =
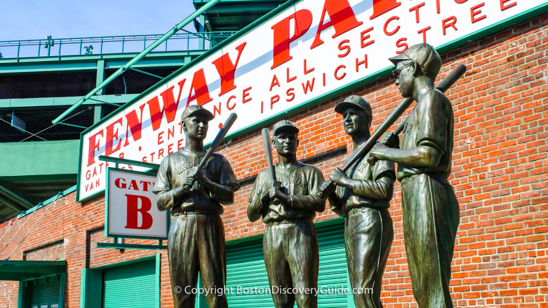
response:
M198 105L186 107L182 114L185 133L183 149L166 156L160 164L153 192L158 194L158 209L171 208L168 235L169 277L173 305L194 307L198 272L203 287L223 292L206 294L209 307L227 307L225 229L223 205L232 204L240 188L232 168L223 155L208 157L203 140L213 115ZM205 160L203 168L198 168Z

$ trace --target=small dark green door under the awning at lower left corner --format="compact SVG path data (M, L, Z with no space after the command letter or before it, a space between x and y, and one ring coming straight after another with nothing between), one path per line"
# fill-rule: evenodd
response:
M27 307L59 307L59 278L44 277L28 282L25 293L29 292L30 305Z

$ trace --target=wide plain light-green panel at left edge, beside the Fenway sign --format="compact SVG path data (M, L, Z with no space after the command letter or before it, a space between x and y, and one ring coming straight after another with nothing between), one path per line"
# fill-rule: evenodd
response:
M0 177L77 175L79 140L0 143Z

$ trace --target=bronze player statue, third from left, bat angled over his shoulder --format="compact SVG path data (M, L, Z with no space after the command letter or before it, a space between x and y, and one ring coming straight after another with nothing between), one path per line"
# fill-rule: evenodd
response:
M351 95L338 103L335 111L343 115L345 131L352 138L354 151L348 162L371 137L371 106L362 97ZM397 140L391 142L397 145ZM358 159L346 173L335 169L329 179L338 186L337 192L329 181L322 191L327 188L325 196L332 210L346 218L345 245L354 303L358 308L379 308L382 274L394 238L388 207L396 175L393 162L371 166L368 158L369 154Z

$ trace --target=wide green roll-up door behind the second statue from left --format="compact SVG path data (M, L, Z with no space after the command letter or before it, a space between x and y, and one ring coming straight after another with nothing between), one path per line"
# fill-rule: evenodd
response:
M325 294L318 295L318 307L349 307L352 300L348 290L348 270L345 255L343 224L316 227L320 251L318 287ZM240 289L238 290L238 287ZM262 257L262 239L227 246L227 294L229 307L274 307L269 279ZM258 294L253 294L257 290ZM353 305L352 305L353 306ZM297 305L295 305L297 307Z

